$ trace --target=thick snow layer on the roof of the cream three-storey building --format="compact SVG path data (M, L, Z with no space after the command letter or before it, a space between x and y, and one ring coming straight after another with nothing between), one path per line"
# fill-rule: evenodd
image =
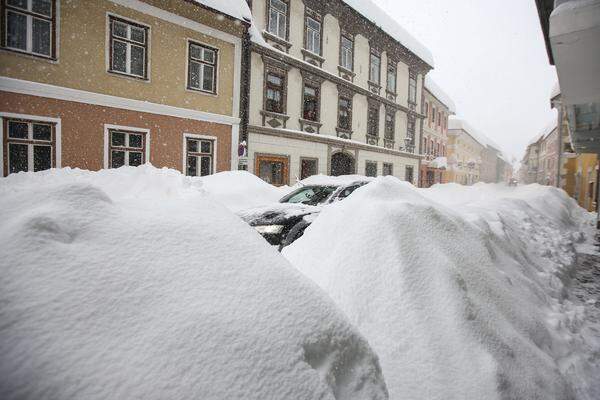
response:
M214 0L217 1L217 0ZM430 66L433 64L433 55L431 51L406 29L404 29L395 19L390 17L385 11L379 8L372 0L342 0L344 3L352 7L362 16L367 18L373 24L381 28L385 33L400 42L404 47L415 53L419 58L425 61Z

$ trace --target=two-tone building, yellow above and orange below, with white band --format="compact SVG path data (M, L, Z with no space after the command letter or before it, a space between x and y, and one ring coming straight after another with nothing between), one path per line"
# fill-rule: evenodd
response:
M246 22L184 0L2 1L2 175L237 168Z

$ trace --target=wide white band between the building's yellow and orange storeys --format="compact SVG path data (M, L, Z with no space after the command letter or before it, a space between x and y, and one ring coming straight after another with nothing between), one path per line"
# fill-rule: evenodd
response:
M37 97L73 101L77 103L93 104L103 107L120 108L130 111L145 112L150 114L166 115L176 118L193 119L197 121L214 122L224 125L238 125L240 119L229 115L212 114L204 111L173 107L164 104L150 103L142 100L127 99L124 97L71 89L62 86L49 85L0 77L0 91L26 94Z

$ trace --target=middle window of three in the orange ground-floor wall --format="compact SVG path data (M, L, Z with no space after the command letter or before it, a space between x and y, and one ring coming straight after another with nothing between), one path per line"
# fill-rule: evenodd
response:
M119 168L124 165L137 167L146 162L146 134L117 129L108 131L110 137L109 165Z

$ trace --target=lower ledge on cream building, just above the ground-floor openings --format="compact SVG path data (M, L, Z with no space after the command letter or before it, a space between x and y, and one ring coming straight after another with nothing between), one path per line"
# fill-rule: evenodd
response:
M329 135L319 135L306 133L302 131L294 131L290 129L276 129L269 128L266 126L258 126L258 125L248 125L248 131L251 133L258 133L262 135L282 137L287 139L297 139L315 143L323 143L337 147L348 147L352 149L372 151L376 153L390 154L399 157L411 158L415 160L420 160L423 158L423 155L407 153L399 150L391 150L386 149L385 147L373 146L366 143L361 143L356 140L342 139L335 136Z

